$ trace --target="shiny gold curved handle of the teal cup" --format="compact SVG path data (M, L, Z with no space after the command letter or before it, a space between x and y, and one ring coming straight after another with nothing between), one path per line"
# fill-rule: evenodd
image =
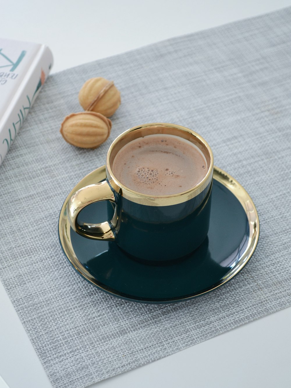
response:
M76 191L67 204L67 216L72 229L89 239L114 241L115 237L108 221L83 223L83 225L77 222L78 214L82 209L91 203L104 200L115 202L113 191L106 180Z

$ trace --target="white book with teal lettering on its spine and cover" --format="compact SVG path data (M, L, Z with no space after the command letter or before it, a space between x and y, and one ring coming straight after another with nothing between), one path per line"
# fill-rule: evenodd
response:
M46 45L0 38L0 165L52 64Z

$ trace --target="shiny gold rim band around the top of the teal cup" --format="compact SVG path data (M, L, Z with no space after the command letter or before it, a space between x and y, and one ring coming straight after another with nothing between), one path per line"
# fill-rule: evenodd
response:
M115 175L112 172L109 159L111 156L111 152L113 151L114 147L118 142L120 142L121 139L125 138L129 133L132 133L137 130L143 130L151 127L164 127L164 128L174 128L175 130L180 130L187 132L188 134L196 137L207 149L209 152L210 156L210 164L208 166L208 171L196 186L191 187L191 189L188 189L186 191L177 193L177 194L168 194L168 195L163 195L163 196L154 196L150 194L143 194L138 191L134 191L130 189L129 187L126 187L122 182L120 182ZM190 128L187 128L182 125L178 124L171 124L171 123L147 123L147 124L142 124L138 126L134 126L132 128L129 128L128 130L124 131L121 133L116 139L113 140L111 143L109 150L107 152L107 157L106 157L106 176L107 180L109 181L109 184L113 187L114 191L118 192L121 194L123 197L126 199L129 199L132 202L139 203L139 204L144 204L148 206L168 206L168 205L173 205L173 204L178 204L178 203L183 203L186 201L189 201L189 199L192 199L196 197L198 194L200 194L212 181L213 178L213 153L211 150L210 145L206 140L199 135L197 132L194 132Z

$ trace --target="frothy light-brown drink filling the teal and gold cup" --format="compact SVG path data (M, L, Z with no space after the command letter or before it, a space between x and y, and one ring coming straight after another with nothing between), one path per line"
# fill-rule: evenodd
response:
M124 145L114 158L112 171L129 189L161 196L196 186L207 173L207 162L189 140L148 135Z

